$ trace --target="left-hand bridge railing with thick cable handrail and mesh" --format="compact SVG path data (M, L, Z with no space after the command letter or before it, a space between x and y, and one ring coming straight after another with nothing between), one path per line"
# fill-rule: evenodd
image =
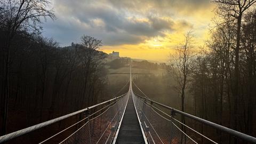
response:
M27 127L16 132L12 132L0 137L0 143L10 141L21 135L41 129L47 125L51 125L62 121L63 119L75 116L78 114L85 115L79 122L67 127L66 129L52 135L40 143L49 142L61 133L64 133L71 128L77 129L67 137L61 137L58 143L110 143L114 138L115 131L124 113L124 108L129 95L123 94L114 99L98 103L97 105L75 111L74 113L64 115L58 118L51 119L37 125ZM102 108L101 108L102 107ZM56 143L56 142L55 142Z

